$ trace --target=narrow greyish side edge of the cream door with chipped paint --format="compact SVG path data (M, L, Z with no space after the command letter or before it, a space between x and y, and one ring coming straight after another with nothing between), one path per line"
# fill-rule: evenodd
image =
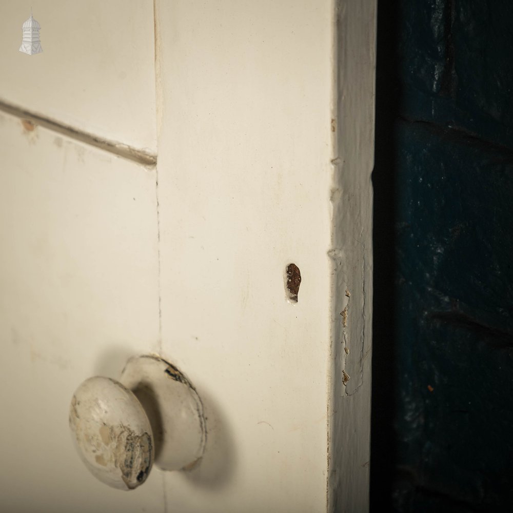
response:
M329 511L367 511L369 506L376 7L376 2L340 2L337 11L333 245L328 253L333 390Z

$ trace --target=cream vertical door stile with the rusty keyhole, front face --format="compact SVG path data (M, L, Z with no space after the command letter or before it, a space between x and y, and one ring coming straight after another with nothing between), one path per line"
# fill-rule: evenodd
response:
M166 475L168 509L324 511L330 6L158 4L162 350L212 443L206 465Z

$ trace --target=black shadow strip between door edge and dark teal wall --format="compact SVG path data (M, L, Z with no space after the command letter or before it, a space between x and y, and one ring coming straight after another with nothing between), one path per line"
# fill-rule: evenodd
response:
M378 4L376 70L376 143L372 172L373 211L373 322L372 322L372 414L370 459L370 511L392 509L392 487L396 462L393 428L394 368L396 366L395 292L396 269L394 204L396 197L396 142L399 117L398 30L396 3Z

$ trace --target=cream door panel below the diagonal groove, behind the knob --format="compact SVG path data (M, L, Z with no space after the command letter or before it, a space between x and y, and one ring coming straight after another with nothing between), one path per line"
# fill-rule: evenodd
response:
M109 489L68 428L78 383L156 343L154 171L6 114L0 140L2 510L158 511L158 476Z

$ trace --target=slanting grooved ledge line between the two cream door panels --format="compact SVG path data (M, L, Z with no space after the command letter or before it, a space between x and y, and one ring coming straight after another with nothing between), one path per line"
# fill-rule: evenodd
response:
M41 114L31 112L22 107L11 105L3 101L0 101L0 111L18 117L21 120L28 120L34 125L45 127L48 130L69 137L69 139L74 139L75 141L80 141L81 143L94 146L95 148L100 148L101 150L120 156L123 159L136 162L137 164L143 164L144 166L156 165L157 155L155 153L151 153L140 148L134 148L127 144L104 139L99 135L93 135L91 133L78 130L77 128L61 123L60 121L51 120Z

